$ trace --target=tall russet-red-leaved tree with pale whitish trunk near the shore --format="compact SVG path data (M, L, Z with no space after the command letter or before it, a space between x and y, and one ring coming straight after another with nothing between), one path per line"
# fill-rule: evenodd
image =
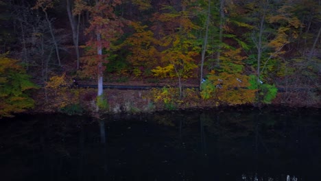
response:
M86 34L90 36L86 43L88 56L83 58L82 73L97 76L97 97L102 97L103 93L104 62L107 56L103 55L103 51L108 51L112 42L122 34L122 21L115 14L115 7L120 3L119 0L96 0L93 5L82 6L91 13L90 26L86 29Z

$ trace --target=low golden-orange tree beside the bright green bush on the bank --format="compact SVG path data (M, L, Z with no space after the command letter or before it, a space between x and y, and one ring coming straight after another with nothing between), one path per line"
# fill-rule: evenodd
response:
M254 102L256 90L248 89L250 77L244 72L246 56L241 48L222 52L220 69L211 71L208 80L202 83L203 99L213 97L218 104L249 104Z

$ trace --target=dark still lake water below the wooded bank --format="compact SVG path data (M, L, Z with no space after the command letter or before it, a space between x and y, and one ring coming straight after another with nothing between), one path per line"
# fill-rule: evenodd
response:
M0 120L0 180L321 180L320 110Z

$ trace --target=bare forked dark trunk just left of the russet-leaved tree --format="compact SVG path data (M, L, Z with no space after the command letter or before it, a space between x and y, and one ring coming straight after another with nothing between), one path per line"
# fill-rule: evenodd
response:
M80 24L80 14L78 14L78 22L75 21L75 16L71 12L71 4L70 1L67 0L67 13L69 22L71 25L71 30L73 32L73 45L75 46L75 53L77 56L77 69L79 69L80 64L80 53L79 53L79 24Z

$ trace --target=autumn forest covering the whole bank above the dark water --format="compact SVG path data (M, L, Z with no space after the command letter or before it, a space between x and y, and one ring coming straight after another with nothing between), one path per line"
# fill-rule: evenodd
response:
M0 117L320 107L320 34L320 0L1 0Z

